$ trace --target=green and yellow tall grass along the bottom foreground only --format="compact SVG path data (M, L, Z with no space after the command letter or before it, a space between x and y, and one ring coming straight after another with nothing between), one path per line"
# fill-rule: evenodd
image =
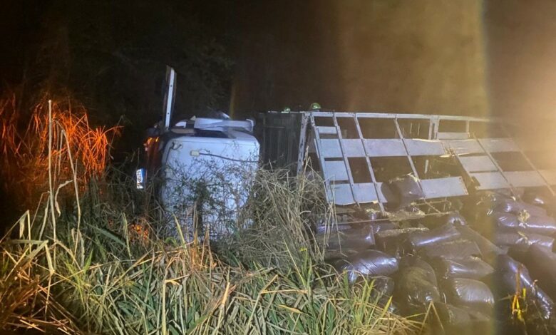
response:
M106 251L100 246L85 245L96 238L76 234L82 241L76 253L62 242L4 242L0 303L8 307L0 313L2 328L102 334L408 334L416 329L377 306L371 283L349 286L309 259L285 271L230 267L206 244L195 243L156 244L143 256L120 259L102 257ZM58 248L56 267L48 262L53 248Z

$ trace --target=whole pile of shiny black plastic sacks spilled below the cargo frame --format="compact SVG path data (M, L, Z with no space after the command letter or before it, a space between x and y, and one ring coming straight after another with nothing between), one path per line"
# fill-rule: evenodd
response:
M556 334L556 221L531 199L487 193L463 215L321 227L316 236L329 234L328 262L350 282L374 280L391 311L428 314L435 334Z

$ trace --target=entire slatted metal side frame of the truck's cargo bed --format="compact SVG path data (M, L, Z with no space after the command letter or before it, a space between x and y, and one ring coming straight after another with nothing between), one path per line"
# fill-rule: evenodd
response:
M418 178L425 200L468 195L473 190L507 189L514 193L523 187L546 187L552 194L556 184L556 170L535 168L515 141L509 137L497 120L445 115L393 114L393 113L342 113L299 112L299 155L297 172L303 168L307 153L314 153L319 160L326 184L326 197L336 205L377 204L381 210L387 200L381 191L382 182L376 179L373 160L396 157L407 159L411 174ZM391 136L375 136L361 123L391 120ZM428 125L426 134L414 137L404 131L400 121ZM351 123L354 128L347 134L341 124ZM500 129L496 137L477 137L477 129ZM448 129L446 129L448 128ZM355 130L355 131L354 131ZM380 131L379 131L380 133ZM484 133L484 132L483 132ZM485 132L490 135L490 131ZM347 136L346 136L347 135ZM495 159L499 153L518 154L527 167L521 170L503 170ZM455 158L462 171L460 175L434 177L420 176L414 158ZM365 163L369 178L354 180L354 167L350 160ZM426 166L428 159L426 159ZM426 168L425 168L426 170Z

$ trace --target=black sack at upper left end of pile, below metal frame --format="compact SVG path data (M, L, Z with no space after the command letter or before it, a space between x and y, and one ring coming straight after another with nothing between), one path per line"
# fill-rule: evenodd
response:
M326 249L369 249L375 245L371 225L351 227L345 230L333 230L326 234L315 234L316 243ZM325 245L326 244L326 245Z

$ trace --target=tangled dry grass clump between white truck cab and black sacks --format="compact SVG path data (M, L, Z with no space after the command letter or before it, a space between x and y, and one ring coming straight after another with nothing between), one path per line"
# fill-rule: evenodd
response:
M259 170L242 213L253 225L218 243L219 250L266 267L292 267L307 257L324 262L325 243L314 243L312 228L331 227L336 213L324 198L324 182L306 175Z

